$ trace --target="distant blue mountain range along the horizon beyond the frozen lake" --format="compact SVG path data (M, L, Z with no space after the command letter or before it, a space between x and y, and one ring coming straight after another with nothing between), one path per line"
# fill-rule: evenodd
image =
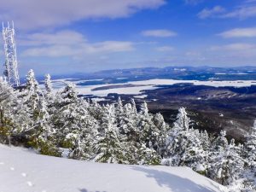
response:
M183 79L183 80L256 80L256 67L145 67L113 69L96 73L74 73L54 76L53 79Z

